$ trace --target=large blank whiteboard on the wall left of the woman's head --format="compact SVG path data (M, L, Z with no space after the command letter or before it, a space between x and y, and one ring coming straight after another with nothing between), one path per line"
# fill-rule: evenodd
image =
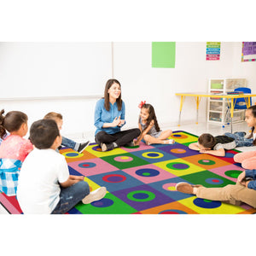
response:
M111 43L0 43L3 99L103 96L111 78Z

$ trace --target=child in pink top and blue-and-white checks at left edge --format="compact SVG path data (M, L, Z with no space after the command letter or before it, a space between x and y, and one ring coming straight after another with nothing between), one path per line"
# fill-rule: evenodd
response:
M11 111L0 112L0 190L6 195L16 195L20 166L32 149L32 143L23 138L27 133L27 115ZM6 137L9 131L9 136Z

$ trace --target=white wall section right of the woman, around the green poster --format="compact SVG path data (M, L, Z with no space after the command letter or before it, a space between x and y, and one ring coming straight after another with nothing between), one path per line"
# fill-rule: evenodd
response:
M159 123L177 125L180 97L176 92L207 92L209 78L246 78L256 90L256 63L241 62L241 43L222 43L219 61L206 61L206 43L177 43L175 68L151 67L151 43L115 43L113 73L123 85L126 119L136 125L140 101L152 103ZM249 68L247 68L249 67ZM207 100L199 119L206 121ZM195 99L186 98L183 122L195 123Z

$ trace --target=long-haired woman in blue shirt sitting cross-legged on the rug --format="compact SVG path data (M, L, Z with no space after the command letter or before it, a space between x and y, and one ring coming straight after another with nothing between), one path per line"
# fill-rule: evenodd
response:
M104 97L96 102L95 141L102 151L122 146L134 146L133 140L141 131L137 128L121 131L125 125L125 102L121 99L121 84L116 79L109 79L105 86Z

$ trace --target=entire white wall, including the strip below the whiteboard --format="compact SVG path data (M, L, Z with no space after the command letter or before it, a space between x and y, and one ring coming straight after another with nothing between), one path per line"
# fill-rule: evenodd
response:
M114 43L113 74L122 86L126 105L126 127L137 126L142 100L153 104L160 125L177 125L180 99L176 92L207 92L209 78L246 78L256 91L256 62L241 62L241 43L221 43L220 61L206 61L206 43L177 43L175 68L151 67L151 43ZM1 81L0 81L1 84ZM1 84L1 86L3 86ZM102 84L102 95L105 84ZM1 97L1 96L0 96ZM92 137L97 99L0 102L6 113L27 113L29 124L55 111L64 116L62 134ZM202 99L200 121L206 121L206 99ZM182 121L195 122L195 100L186 98Z

